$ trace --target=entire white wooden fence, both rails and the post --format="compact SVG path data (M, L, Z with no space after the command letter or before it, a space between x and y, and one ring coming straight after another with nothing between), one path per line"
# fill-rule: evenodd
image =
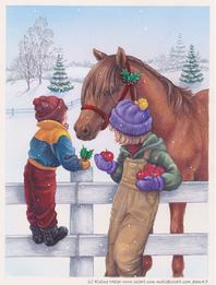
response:
M160 203L206 203L207 182L183 182L178 190L161 192ZM93 169L71 173L71 182L58 183L57 203L70 204L70 235L55 247L35 245L29 236L7 236L5 256L68 257L70 276L93 276L94 258L105 257L107 236L94 234L94 204L110 204L117 185L93 182ZM5 185L7 205L24 204L23 183ZM163 245L163 247L161 247ZM204 256L207 254L207 234L153 234L146 254Z

